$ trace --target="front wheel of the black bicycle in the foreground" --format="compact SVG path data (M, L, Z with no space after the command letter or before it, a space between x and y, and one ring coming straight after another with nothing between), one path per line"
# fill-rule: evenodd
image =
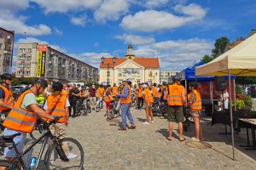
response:
M76 139L62 139L62 149L68 158L68 161L62 161L56 152L58 144L53 144L46 151L45 167L46 169L83 169L84 165L84 150Z

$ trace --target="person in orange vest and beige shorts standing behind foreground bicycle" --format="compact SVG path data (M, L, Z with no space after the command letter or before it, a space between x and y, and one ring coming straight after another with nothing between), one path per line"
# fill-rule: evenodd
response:
M59 136L60 139L64 139L66 138L66 128L69 120L68 107L70 106L70 103L67 94L63 93L63 85L61 82L54 82L52 84L52 89L52 94L49 94L44 104L44 110L51 116L61 116L61 119L57 123L52 124L49 127L49 130L53 135ZM51 144L52 140L49 139L48 145L50 146ZM70 159L74 156L74 154L69 153L67 143L63 143L62 147L67 154L67 158ZM53 163L54 160L54 155L50 156L51 163Z

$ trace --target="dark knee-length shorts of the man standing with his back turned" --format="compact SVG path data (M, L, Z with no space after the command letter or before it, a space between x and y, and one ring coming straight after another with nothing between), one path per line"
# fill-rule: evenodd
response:
M168 105L167 107L168 122L184 122L183 106L179 105Z

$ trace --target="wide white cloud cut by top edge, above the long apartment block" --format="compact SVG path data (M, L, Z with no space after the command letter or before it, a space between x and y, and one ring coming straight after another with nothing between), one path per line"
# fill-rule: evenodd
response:
M71 10L82 10L86 8L95 9L102 3L102 0L31 0L44 8L45 13L60 12L67 13Z

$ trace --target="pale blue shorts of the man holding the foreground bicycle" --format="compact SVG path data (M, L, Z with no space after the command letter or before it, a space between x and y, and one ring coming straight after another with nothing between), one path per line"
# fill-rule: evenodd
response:
M17 144L16 147L17 147L18 151L19 152L23 151L24 145L25 145L26 133L10 129L8 127L6 127L4 129L3 133L4 133L4 136L10 136L12 134L21 133L19 136L15 137L14 141L15 141L15 144ZM16 154L14 148L11 150L9 150L8 147L4 148L4 156L5 157L16 157L16 155L17 154Z

